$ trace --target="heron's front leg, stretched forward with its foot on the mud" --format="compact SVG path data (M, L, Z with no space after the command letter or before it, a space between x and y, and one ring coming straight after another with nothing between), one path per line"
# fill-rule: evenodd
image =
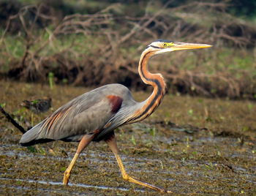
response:
M123 165L123 162L121 161L121 158L118 155L118 147L116 145L116 139L115 139L114 135L112 137L108 138L108 140L105 140L105 141L106 141L106 143L108 143L108 146L110 147L111 151L113 151L113 154L115 154L116 161L118 162L118 165L119 165L120 170L121 170L121 175L123 176L124 180L135 183L135 184L140 184L142 186L146 186L150 189L154 189L154 190L159 191L159 192L169 192L170 193L170 191L166 191L165 189L162 189L160 187L148 184L148 183L143 182L143 181L138 181L135 178L129 176L127 174L126 170L124 169L124 165Z

